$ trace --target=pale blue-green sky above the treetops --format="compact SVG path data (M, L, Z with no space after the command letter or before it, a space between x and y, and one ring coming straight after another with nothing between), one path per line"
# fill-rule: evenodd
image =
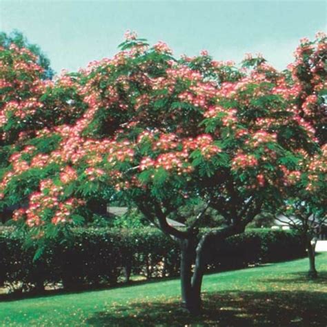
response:
M326 31L326 1L0 0L0 30L20 30L56 72L112 57L126 30L164 41L175 56L201 50L241 61L261 52L284 69L302 37Z

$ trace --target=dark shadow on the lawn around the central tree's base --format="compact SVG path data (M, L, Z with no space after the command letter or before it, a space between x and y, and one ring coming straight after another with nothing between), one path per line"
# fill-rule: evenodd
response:
M204 295L204 310L194 317L176 298L108 306L86 323L90 326L326 326L323 292L235 292Z

